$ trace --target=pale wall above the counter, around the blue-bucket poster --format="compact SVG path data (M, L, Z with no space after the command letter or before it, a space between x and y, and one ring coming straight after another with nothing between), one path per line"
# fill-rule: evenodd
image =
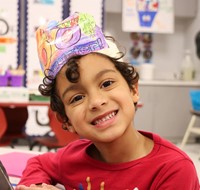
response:
M200 0L198 0L200 1ZM199 3L200 4L200 3ZM198 5L200 10L200 5ZM197 79L200 75L200 60L195 54L194 36L200 30L200 13L196 18L175 18L173 34L153 35L153 62L156 65L156 79L174 79L180 73L180 64L185 49L191 49L197 68ZM129 51L132 46L130 34L122 31L122 14L106 12L105 33L113 35ZM128 54L127 54L128 58Z

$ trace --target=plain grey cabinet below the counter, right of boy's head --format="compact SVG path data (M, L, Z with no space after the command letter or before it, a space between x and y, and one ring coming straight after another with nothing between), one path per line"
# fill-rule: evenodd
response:
M172 141L180 141L190 121L190 86L139 85L144 106L137 110L135 127Z

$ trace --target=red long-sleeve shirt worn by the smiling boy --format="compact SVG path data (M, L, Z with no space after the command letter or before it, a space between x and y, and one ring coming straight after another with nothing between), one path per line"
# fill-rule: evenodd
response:
M56 153L31 158L20 184L64 185L66 190L199 190L190 158L156 134L141 132L154 141L147 156L108 164L87 155L89 140L77 140Z

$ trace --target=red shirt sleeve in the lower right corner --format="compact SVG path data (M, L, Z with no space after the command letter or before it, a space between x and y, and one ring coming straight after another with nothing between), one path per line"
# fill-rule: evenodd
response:
M163 170L153 189L181 189L181 190L200 190L199 180L194 164L183 159Z

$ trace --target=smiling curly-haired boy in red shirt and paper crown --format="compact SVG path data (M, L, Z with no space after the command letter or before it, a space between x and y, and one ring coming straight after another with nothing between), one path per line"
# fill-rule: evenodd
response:
M45 71L40 92L82 138L29 160L18 190L198 190L190 158L156 134L137 131L139 76L88 14L37 31ZM32 184L32 185L31 185Z

